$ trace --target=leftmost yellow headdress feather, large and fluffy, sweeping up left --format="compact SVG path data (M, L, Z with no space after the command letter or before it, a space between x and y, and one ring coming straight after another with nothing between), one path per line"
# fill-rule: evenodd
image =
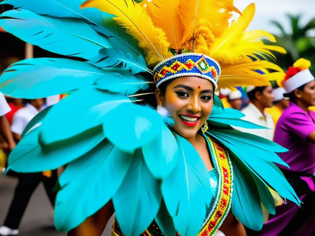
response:
M146 52L148 65L172 56L163 30L155 27L146 10L133 0L88 0L81 4L81 8L86 7L96 7L115 15L113 19L139 41L139 46Z

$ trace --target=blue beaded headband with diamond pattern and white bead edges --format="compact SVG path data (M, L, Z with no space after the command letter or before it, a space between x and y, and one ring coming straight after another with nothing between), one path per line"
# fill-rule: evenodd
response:
M221 68L211 57L199 53L184 53L159 63L153 72L157 87L169 79L198 76L210 80L216 89Z

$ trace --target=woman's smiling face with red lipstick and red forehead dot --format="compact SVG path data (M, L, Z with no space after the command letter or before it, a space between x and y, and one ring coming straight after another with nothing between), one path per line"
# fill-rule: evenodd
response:
M165 107L175 120L172 129L184 138L196 136L213 106L213 85L203 78L186 76L169 83L162 93L155 92L157 104Z

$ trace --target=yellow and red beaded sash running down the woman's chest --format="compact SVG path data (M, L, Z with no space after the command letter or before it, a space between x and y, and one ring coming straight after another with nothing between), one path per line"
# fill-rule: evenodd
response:
M209 212L198 236L214 235L230 211L232 204L233 169L227 149L218 142L211 140L208 136L206 137L209 141L212 153L215 155L215 159L218 160L217 164L220 169L221 177L219 179L219 190L215 203L213 204L213 209Z

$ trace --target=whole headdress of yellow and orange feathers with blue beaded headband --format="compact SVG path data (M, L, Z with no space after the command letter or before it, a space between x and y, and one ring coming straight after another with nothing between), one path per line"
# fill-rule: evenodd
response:
M281 71L266 56L274 58L270 50L286 51L261 41L275 42L275 37L263 30L244 32L255 4L242 13L232 0L88 0L81 5L86 7L114 15L139 42L157 87L182 76L208 79L215 89L264 86L270 84L268 76L255 70ZM232 13L240 16L231 23Z

